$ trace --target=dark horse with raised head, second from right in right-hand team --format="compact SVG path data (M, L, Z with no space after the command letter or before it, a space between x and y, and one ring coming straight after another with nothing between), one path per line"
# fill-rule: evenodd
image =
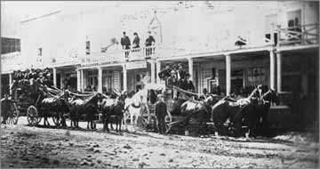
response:
M242 123L241 109L243 109L246 105L249 105L252 101L251 98L254 97L254 95L257 95L257 93L258 88L255 88L247 98L234 100L227 96L214 104L212 107L211 119L215 128L220 134L224 133L223 125L227 119L229 119L229 121L232 122L236 128L236 135L240 135Z

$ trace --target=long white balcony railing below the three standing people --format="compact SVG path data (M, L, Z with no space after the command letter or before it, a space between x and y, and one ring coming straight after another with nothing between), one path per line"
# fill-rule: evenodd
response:
M79 58L82 65L121 63L133 60L145 60L156 57L156 46L140 47L128 50L110 50L106 52L92 52ZM127 56L127 57L126 57Z

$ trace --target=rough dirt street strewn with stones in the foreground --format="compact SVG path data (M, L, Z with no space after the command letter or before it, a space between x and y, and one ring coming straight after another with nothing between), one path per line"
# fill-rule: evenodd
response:
M319 144L308 134L246 140L104 133L100 128L29 127L23 117L19 125L1 125L1 167L318 167Z

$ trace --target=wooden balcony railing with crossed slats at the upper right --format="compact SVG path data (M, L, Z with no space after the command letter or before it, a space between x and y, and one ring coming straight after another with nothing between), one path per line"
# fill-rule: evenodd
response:
M277 27L278 45L318 44L318 24L294 26L288 28Z

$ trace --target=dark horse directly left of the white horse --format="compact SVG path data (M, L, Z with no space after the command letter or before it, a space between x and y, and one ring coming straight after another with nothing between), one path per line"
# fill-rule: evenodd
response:
M121 132L121 124L124 118L124 99L125 94L116 93L116 95L107 97L101 101L100 109L102 111L103 130L109 132L108 124L113 116L116 119L116 132Z

